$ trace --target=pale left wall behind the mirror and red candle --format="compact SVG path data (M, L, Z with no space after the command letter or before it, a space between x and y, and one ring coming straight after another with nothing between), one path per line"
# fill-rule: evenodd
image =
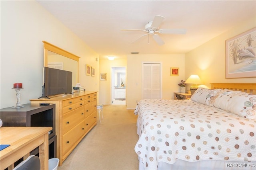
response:
M36 1L1 1L0 107L16 105L16 82L23 83L21 104L42 96L42 41L48 41L80 58L80 84L98 91L98 54ZM85 64L95 67L95 77L85 75Z

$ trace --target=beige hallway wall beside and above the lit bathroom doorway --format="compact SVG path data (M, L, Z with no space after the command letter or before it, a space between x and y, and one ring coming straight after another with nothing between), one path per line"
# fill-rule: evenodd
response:
M126 67L127 61L126 59L115 59L115 60L108 60L108 59L100 59L100 68L99 73L107 73L107 80L100 80L99 85L99 102L100 104L110 104L111 101L111 68L112 67ZM99 80L100 78L98 78Z

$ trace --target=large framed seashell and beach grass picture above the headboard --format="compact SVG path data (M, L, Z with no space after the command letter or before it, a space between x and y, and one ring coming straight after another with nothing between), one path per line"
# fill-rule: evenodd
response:
M226 40L226 79L256 77L256 27Z

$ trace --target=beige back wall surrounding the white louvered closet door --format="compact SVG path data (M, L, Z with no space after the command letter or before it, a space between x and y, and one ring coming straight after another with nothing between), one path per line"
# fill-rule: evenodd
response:
M127 56L127 109L135 109L142 99L142 62L162 62L162 98L173 99L179 91L178 83L184 80L185 56L177 55L128 55ZM170 76L170 67L179 67L179 76Z

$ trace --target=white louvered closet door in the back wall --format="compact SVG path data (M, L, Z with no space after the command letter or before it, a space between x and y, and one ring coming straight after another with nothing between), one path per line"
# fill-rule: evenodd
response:
M142 64L142 98L161 99L162 98L162 75L160 63Z

